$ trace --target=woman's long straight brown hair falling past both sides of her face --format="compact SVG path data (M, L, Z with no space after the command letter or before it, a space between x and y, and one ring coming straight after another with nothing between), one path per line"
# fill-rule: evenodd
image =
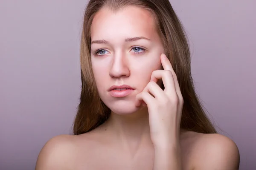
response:
M112 12L117 12L127 6L146 9L155 18L165 54L177 74L184 99L180 128L198 133L216 133L195 93L187 37L169 0L90 0L85 10L81 35L82 87L73 134L89 132L104 123L110 116L111 111L100 99L93 77L90 59L90 26L93 17L102 7L108 7Z

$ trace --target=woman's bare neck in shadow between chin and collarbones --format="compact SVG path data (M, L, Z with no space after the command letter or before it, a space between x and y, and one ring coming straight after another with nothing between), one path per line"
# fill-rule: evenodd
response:
M136 149L141 145L151 144L147 108L142 108L128 115L111 112L104 127L111 137L114 137L116 141L121 142L128 149Z

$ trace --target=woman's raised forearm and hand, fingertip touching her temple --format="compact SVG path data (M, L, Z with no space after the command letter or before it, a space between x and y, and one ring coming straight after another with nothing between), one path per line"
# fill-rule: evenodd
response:
M160 56L164 70L153 71L143 92L136 96L136 106L148 107L151 141L154 145L153 170L181 170L180 119L183 97L177 76L165 54ZM157 81L163 80L162 90ZM152 96L152 95L153 96Z

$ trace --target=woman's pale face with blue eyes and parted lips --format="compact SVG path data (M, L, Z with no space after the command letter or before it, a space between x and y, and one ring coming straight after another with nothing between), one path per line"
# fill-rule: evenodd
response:
M163 44L148 11L131 6L113 14L102 8L95 15L91 62L99 96L111 111L128 114L139 109L135 96L148 84L151 73L161 69L162 53ZM113 85L129 87L110 91Z

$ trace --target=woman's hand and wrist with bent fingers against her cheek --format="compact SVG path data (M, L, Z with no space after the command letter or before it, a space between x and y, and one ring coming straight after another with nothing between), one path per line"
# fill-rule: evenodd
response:
M177 76L165 54L160 56L164 70L153 71L151 80L136 96L136 106L148 107L151 140L155 146L179 144L183 97ZM163 80L164 90L157 85ZM153 96L152 96L152 95Z

